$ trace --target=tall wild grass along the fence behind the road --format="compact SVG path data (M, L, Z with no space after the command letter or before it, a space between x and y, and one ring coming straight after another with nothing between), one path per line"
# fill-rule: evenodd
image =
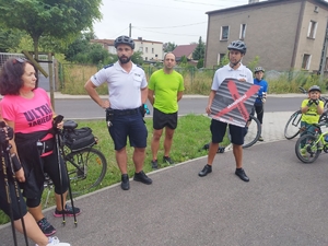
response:
M258 60L255 59L249 68L255 68L256 62L258 62ZM97 69L96 66L63 65L60 75L61 93L85 95L84 84ZM154 68L150 69L145 67L144 71L149 80ZM186 68L178 69L177 71L184 77L184 94L209 95L215 69L190 70ZM265 78L265 80L269 83L269 94L300 93L298 86L303 86L307 90L314 84L319 85L325 93L328 87L327 78L320 81L317 74L308 71L285 71L279 73L277 77ZM107 95L107 84L97 87L97 92L101 95Z

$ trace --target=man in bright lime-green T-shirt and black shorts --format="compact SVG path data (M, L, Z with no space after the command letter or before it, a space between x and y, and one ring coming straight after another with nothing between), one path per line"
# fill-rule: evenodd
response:
M160 149L160 139L165 128L164 156L163 162L174 164L169 157L169 151L173 142L174 130L177 127L178 101L183 97L184 78L174 70L176 65L175 56L168 52L164 56L164 67L155 71L149 81L148 98L153 105L153 139L152 148L152 168L157 168L157 152Z

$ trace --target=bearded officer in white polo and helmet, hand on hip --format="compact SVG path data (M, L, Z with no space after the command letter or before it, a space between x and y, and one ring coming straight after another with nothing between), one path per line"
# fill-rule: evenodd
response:
M106 108L108 131L114 141L115 154L118 167L121 172L121 188L130 188L127 167L127 138L134 148L133 163L136 173L133 180L143 184L152 184L144 172L143 162L148 131L143 122L143 104L148 97L148 82L144 71L131 61L134 42L128 36L119 36L114 46L117 50L118 61L108 65L95 73L85 83L84 89L101 107ZM108 85L108 101L103 101L96 92L96 87L103 83Z

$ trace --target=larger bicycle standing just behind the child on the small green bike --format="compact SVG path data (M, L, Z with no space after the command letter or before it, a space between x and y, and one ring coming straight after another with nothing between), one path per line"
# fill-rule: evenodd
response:
M298 87L302 93L306 94L307 91L303 87ZM324 101L324 114L320 115L319 122L326 121L327 115L328 115L328 98L320 96L320 99ZM302 112L301 109L294 112L291 117L289 118L285 127L284 127L284 137L288 140L291 140L295 138L300 132L306 130L304 128L301 128L301 117L302 117Z

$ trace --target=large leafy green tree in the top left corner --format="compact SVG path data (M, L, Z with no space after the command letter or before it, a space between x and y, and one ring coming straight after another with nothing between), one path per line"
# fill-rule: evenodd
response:
M40 37L74 38L102 19L101 4L102 0L0 0L0 22L7 28L25 31L38 57Z

